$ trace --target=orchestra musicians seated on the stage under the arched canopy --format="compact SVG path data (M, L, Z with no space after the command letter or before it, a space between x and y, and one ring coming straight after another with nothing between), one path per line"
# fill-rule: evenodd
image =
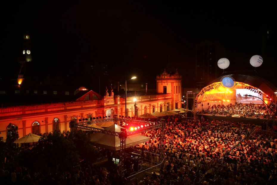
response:
M240 115L246 117L274 117L276 113L276 105L270 104L270 106L259 104L242 104L236 103L234 105L216 105L203 109L203 114L217 114L217 115Z

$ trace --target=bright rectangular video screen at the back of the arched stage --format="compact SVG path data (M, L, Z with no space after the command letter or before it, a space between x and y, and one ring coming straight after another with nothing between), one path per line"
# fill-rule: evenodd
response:
M252 90L252 91L251 91ZM252 96L256 96L256 97L251 97L248 95L252 95ZM259 98L257 98L259 97ZM262 104L263 101L261 99L263 99L263 95L259 95L259 93L254 89L236 89L236 101L238 103L242 103L242 104Z

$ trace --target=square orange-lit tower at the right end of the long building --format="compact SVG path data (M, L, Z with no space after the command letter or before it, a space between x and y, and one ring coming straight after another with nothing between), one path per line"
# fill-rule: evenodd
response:
M181 95L182 95L182 75L178 73L176 69L175 74L170 75L164 72L161 75L156 76L157 81L157 93L158 94L171 94L172 105L171 109L181 108Z

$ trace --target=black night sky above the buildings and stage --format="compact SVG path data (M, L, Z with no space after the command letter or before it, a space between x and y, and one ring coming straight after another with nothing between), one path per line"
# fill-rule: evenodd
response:
M106 86L124 84L136 75L136 83L155 86L155 76L164 68L168 73L178 68L183 87L194 87L195 44L209 40L226 48L230 67L225 71L253 70L249 59L261 55L264 63L256 72L276 85L276 13L270 7L171 1L12 2L1 12L1 81L16 78L27 33L33 58L28 73L38 81L59 78L98 91L99 76ZM99 70L104 65L106 75Z

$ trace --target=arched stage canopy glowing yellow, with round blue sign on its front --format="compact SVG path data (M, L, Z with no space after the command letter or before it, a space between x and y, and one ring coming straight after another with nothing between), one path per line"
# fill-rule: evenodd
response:
M276 92L277 88L273 84L260 77L239 74L226 75L215 79L197 94L195 107L197 110L201 110L202 105L204 109L214 104L228 105L235 104L235 102L263 104L263 101L269 105L276 101Z

